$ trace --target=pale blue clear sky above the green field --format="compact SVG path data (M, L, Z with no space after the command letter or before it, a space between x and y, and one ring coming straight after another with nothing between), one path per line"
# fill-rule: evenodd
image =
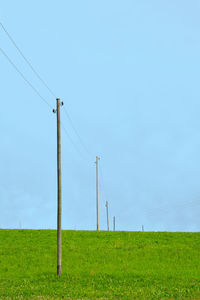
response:
M200 230L200 2L1 1L1 22L62 109L64 229ZM1 48L56 100L0 28ZM0 228L56 228L56 116L0 53ZM102 179L103 178L103 179ZM112 228L112 224L110 224Z

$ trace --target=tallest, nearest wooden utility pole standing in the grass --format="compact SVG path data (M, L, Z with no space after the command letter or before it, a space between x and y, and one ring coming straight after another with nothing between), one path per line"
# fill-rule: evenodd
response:
M56 99L57 109L53 109L57 113L57 185L58 185L58 208L57 208L57 275L61 276L61 134L60 134L60 106L63 102Z

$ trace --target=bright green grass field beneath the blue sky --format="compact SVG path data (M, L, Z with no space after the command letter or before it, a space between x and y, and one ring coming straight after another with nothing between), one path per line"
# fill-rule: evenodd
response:
M0 299L200 299L200 234L0 230Z

